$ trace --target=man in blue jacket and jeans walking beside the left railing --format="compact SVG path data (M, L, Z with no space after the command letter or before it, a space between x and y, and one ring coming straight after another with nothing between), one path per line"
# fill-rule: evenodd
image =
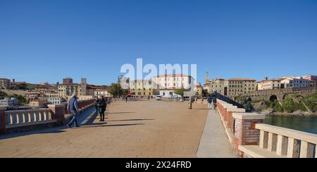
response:
M78 100L77 100L77 93L76 92L74 92L72 97L70 98L70 100L68 102L67 109L73 115L72 119L68 123L68 128L72 128L72 125L74 123L75 123L75 127L80 127L80 125L78 124L78 121L77 121L77 115L78 115L79 109L78 109Z

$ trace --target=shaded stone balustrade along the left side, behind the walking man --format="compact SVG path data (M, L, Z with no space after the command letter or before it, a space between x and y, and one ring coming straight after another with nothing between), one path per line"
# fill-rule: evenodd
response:
M80 113L92 106L94 106L93 99L78 102ZM6 111L6 108L0 108L0 135L63 125L69 116L67 104L50 104L48 109L23 111Z

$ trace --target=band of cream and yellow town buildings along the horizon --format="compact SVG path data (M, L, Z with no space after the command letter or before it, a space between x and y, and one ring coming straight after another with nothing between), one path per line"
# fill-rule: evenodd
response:
M130 80L121 76L118 83L112 85L89 85L86 78L80 82L73 82L72 78L63 78L63 82L49 84L41 82L30 84L16 82L14 79L0 78L0 106L30 106L44 108L48 104L62 104L76 92L78 99L87 100L95 97L129 97L129 99L148 99L162 97L166 99L177 97L206 97L217 92L225 97L234 98L261 90L280 90L299 87L316 87L316 75L281 77L278 79L263 78L261 81L248 78L209 79L205 75L205 84L194 85L194 78L190 75L171 74L158 75L151 80ZM118 87L119 85L119 87ZM122 86L127 85L127 89ZM194 91L189 90L194 88ZM179 93L178 90L184 92ZM119 91L118 91L119 90Z

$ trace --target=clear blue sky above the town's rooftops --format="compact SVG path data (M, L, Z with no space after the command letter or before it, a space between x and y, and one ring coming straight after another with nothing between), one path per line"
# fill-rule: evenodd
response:
M0 0L0 78L116 81L123 63L211 78L317 74L316 0Z

